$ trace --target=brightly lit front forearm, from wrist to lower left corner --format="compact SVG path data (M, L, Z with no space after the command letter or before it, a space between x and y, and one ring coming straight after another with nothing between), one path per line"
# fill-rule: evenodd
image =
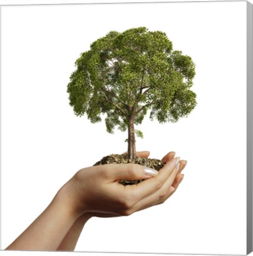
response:
M7 249L56 251L77 217L70 198L60 190L47 209Z

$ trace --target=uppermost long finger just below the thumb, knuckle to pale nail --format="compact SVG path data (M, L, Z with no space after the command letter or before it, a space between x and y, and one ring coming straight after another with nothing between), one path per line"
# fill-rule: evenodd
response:
M129 190L129 193L133 194L136 201L140 201L141 199L144 199L144 197L150 196L150 194L158 191L168 179L170 180L171 184L173 183L178 171L178 168L176 168L178 162L179 158L172 159L160 169L158 175L155 177L142 181L142 183L128 186L126 189Z

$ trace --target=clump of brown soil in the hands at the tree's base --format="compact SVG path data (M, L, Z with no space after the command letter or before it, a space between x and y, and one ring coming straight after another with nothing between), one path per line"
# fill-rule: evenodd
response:
M161 162L158 159L151 159L151 158L142 158L138 156L135 159L128 159L126 153L122 155L112 154L103 157L100 161L96 162L95 165L104 165L104 164L140 164L145 167L156 169L160 171L161 168L164 167L165 163ZM94 165L94 166L95 166ZM138 184L144 180L119 180L119 183L122 185L134 185Z

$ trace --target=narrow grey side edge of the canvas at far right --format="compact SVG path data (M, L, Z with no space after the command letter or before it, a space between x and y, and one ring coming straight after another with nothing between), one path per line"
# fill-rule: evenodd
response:
M253 94L252 94L252 87L253 87L253 24L252 24L252 15L253 15L253 5L250 2L246 4L246 54L247 54L247 181L246 181L246 254L252 252L252 122L253 122Z

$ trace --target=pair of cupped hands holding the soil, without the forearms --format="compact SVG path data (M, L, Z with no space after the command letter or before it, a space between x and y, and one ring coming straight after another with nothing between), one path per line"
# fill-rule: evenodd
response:
M148 157L149 152L138 152ZM74 212L80 216L127 216L138 210L161 204L179 187L186 161L170 152L162 159L166 165L159 171L138 164L107 164L80 169L66 184ZM122 185L119 180L142 180Z

